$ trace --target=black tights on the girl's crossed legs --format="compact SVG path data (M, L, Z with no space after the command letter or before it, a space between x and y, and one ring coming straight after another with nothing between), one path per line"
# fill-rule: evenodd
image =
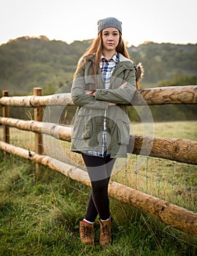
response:
M95 157L88 154L82 154L82 158L92 185L85 219L94 222L98 214L101 219L108 219L110 217L108 184L115 158Z

